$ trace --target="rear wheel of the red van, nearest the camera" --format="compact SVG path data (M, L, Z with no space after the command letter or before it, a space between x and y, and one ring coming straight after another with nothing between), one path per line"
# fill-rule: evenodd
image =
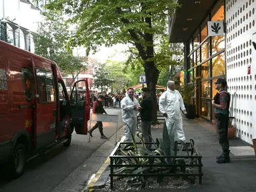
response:
M27 163L26 148L22 143L17 143L13 155L9 161L8 172L10 179L20 177Z

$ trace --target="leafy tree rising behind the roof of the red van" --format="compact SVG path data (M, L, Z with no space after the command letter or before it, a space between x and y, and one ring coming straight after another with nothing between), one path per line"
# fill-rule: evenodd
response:
M72 51L65 48L70 35L69 25L64 22L61 12L45 12L45 20L38 23L37 33L34 34L35 54L55 61L66 75L78 75L86 68L82 60L74 57ZM61 33L59 33L61 31Z

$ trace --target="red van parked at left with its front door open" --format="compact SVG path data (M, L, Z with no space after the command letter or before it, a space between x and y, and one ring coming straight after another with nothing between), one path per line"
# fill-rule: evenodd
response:
M80 81L86 84L83 98ZM56 63L0 41L0 165L9 176L19 177L39 153L68 147L74 127L87 135L88 79L80 81L69 98Z

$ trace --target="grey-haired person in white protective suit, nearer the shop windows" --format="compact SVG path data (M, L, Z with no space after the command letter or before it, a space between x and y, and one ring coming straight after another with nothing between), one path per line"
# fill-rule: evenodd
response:
M186 137L182 128L182 117L180 109L186 114L183 99L180 93L175 90L174 81L167 82L167 90L159 98L159 111L164 115L169 137L171 134L172 124L174 123L175 141L185 141ZM172 133L173 134L173 133Z

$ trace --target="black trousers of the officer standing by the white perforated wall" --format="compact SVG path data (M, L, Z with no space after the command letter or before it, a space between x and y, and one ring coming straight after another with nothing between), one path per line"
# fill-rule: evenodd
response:
M227 133L229 130L229 115L222 113L216 114L216 125L219 135L219 144L223 151L229 150L229 139L227 139Z

